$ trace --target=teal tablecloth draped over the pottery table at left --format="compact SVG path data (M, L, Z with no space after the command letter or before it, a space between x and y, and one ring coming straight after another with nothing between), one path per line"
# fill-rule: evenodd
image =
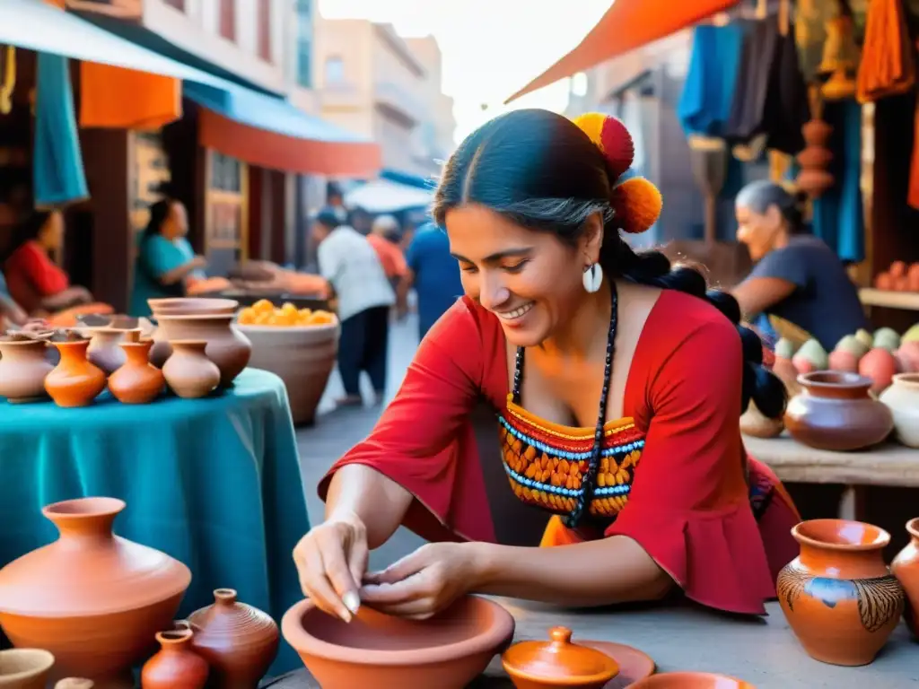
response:
M124 500L116 533L191 569L180 615L215 588L278 623L302 598L291 551L309 520L287 391L272 373L248 368L205 400L0 400L0 566L57 536L42 506L89 495ZM282 643L271 672L298 666Z

